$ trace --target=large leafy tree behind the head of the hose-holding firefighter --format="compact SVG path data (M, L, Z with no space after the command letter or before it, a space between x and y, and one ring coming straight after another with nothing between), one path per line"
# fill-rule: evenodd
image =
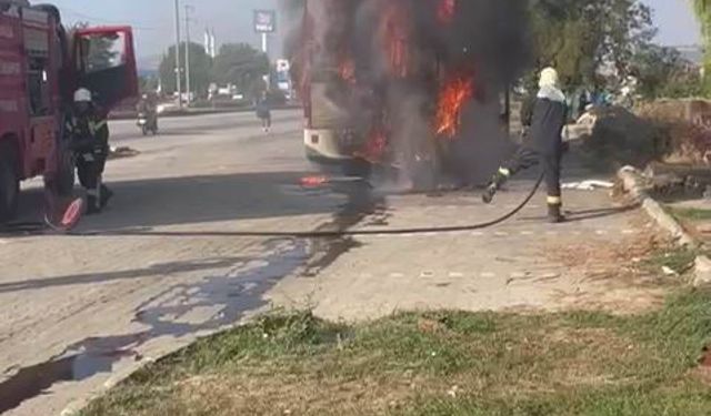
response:
M530 13L538 67L557 67L571 87L604 69L628 74L631 57L657 32L638 0L535 0Z

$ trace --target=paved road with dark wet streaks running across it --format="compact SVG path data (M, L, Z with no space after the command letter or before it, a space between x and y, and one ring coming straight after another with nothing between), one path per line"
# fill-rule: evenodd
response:
M0 236L0 413L77 408L141 365L274 306L352 321L437 307L630 311L662 295L610 273L629 262L617 248L655 230L607 191L569 192L573 221L555 227L542 222L537 196L485 230L241 236L468 225L505 213L532 185L515 181L491 206L468 192L304 190L300 179L317 169L300 129L296 111L276 112L271 134L252 114L163 120L157 138L111 123L113 145L140 154L109 164L116 200L81 223L84 235ZM40 200L36 187L23 194L26 220Z

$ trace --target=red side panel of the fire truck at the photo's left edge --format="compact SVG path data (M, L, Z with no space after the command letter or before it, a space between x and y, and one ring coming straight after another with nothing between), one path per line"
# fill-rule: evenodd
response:
M12 16L13 8L0 13L0 140L16 138L21 160L27 152L28 112L24 93L24 60L22 55L21 24ZM28 176L26 163L22 175Z

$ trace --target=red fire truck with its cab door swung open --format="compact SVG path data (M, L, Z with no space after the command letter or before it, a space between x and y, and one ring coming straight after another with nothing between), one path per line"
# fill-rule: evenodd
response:
M107 112L138 94L131 29L68 32L53 6L0 0L0 223L17 213L23 180L41 175L46 186L71 194L73 155L63 125L80 87Z

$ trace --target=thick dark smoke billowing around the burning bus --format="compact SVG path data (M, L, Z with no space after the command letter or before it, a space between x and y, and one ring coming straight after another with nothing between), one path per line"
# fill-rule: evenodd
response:
M531 58L527 1L457 0L443 20L445 1L282 0L292 23L286 45L296 79L352 61L353 82L333 78L330 100L359 135L384 131L390 162L428 185L444 177L479 181L505 154L500 97ZM385 41L393 31L405 45L405 73L393 71ZM474 94L458 135L443 140L433 116L442 83L458 73L473 74Z

